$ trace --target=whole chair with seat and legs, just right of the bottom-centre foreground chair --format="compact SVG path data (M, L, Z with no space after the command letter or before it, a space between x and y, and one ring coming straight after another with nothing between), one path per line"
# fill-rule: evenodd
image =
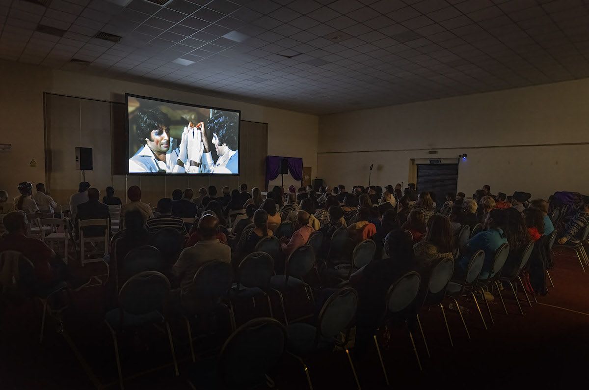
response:
M340 333L348 335L357 308L358 293L352 287L345 287L326 300L315 325L299 322L287 326L286 350L303 365L310 389L313 389L313 385L305 361L312 358L317 351L332 351L336 345L346 351L356 385L360 388L349 349L346 347L348 339L338 338Z

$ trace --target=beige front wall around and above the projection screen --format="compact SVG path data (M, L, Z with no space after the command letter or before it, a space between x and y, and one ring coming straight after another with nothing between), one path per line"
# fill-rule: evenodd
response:
M15 62L0 61L0 74L0 128L4 135L0 143L12 144L10 153L0 153L0 189L8 190L11 198L17 195L19 181L45 181L43 92L121 102L129 92L241 110L242 120L268 124L269 154L302 157L305 166L316 170L316 115ZM29 166L32 158L37 161L36 167ZM284 184L296 183L286 183L285 177Z

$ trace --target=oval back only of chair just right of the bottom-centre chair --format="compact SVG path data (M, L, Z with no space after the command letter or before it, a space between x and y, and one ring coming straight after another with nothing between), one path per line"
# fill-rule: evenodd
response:
M333 293L323 304L317 318L320 336L335 338L349 329L358 309L358 293L352 287L344 287ZM319 341L319 337L315 338Z

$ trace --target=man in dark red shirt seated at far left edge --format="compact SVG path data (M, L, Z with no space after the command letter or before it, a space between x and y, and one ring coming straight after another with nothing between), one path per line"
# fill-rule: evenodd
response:
M35 283L39 289L51 287L68 281L74 288L81 287L90 280L72 280L67 265L51 248L38 239L27 237L27 216L22 211L12 211L4 216L4 226L8 234L0 240L0 252L15 250L22 253L35 266Z

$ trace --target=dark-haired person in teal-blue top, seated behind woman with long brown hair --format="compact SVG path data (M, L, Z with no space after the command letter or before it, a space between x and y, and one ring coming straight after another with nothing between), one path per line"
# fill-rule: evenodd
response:
M462 257L458 260L458 268L462 272L466 271L468 262L472 255L478 250L482 249L485 252L485 262L482 267L481 275L491 270L495 252L502 244L507 243L503 228L505 226L505 211L501 209L493 209L487 214L485 219L485 230L476 234L466 243L462 249Z

